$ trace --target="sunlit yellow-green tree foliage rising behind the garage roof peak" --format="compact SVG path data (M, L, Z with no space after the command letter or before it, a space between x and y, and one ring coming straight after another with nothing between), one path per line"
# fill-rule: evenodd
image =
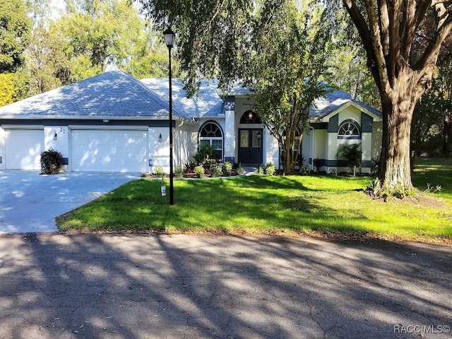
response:
M66 0L54 20L47 0L30 1L37 19L27 50L28 95L95 76L110 64L137 78L167 73L167 50L131 1Z

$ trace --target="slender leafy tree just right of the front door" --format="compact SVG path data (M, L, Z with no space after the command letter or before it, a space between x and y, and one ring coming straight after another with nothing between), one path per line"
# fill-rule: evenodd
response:
M329 32L326 12L314 4L297 8L294 1L278 6L266 1L258 13L251 88L256 113L283 150L286 173L294 172L309 108L326 93L319 79L327 69Z

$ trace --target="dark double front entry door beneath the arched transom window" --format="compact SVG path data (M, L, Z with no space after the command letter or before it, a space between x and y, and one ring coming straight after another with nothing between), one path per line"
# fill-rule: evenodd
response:
M242 165L262 163L262 136L262 129L239 129L239 162Z

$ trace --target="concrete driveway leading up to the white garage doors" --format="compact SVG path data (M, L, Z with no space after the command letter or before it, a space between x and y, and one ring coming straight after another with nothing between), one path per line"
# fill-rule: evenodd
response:
M57 216L139 176L139 173L42 175L39 171L0 171L0 234L57 232Z

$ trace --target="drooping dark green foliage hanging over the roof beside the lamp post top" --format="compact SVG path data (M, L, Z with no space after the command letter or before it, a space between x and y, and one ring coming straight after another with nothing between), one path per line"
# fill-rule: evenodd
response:
M231 79L246 78L254 1L139 0L157 30L172 25L177 59L186 73L185 87L194 95L200 79L218 78L226 89ZM278 3L279 1L272 1Z

